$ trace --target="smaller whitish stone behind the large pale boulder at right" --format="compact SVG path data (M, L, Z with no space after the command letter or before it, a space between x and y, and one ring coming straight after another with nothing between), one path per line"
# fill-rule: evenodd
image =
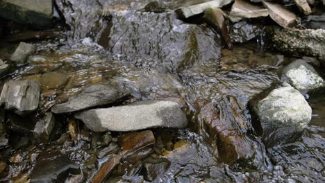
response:
M287 81L299 90L299 92L310 92L313 89L324 87L324 79L317 71L303 60L296 60L283 70L282 80Z

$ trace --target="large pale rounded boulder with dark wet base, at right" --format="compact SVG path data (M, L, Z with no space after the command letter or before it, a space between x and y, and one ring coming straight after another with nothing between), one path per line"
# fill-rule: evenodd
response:
M253 110L258 118L256 130L268 148L297 139L312 117L305 98L285 82L253 104Z

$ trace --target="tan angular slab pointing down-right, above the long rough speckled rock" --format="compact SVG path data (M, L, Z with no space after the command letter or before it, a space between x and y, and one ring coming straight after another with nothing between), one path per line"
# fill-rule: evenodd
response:
M263 1L264 6L269 10L269 17L271 17L276 23L278 23L283 28L292 27L296 24L296 15L289 10L286 10L281 5L276 3L269 3Z

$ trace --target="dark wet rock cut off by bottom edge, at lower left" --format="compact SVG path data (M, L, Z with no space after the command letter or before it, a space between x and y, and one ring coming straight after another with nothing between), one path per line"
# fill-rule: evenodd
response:
M61 153L41 154L31 173L32 183L65 182L69 175L80 173L79 166Z

